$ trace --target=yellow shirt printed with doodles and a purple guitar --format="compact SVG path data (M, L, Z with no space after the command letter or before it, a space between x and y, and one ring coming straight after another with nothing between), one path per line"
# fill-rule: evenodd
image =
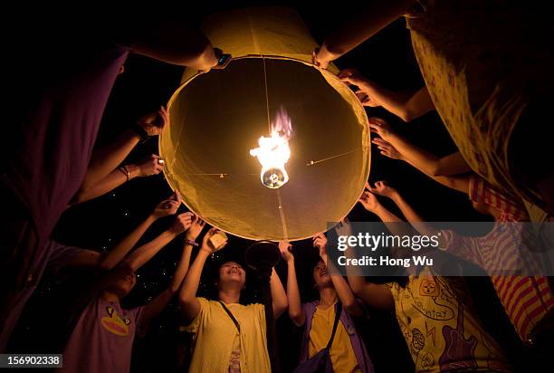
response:
M417 372L511 371L501 349L464 301L463 282L425 269L405 288L389 283L396 320Z

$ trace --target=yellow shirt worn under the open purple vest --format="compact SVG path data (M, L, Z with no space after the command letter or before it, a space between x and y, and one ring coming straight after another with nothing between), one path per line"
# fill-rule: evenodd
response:
M345 312L343 310L343 312ZM335 306L326 310L316 307L311 320L310 340L308 341L308 357L311 358L321 349L325 349L329 343L333 322L335 321ZM337 373L350 373L361 371L358 367L358 360L350 343L349 333L339 321L335 338L330 349L333 370Z

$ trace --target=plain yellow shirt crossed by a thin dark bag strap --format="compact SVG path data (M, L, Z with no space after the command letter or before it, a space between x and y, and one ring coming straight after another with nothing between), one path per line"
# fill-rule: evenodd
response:
M233 320L218 301L197 300L201 308L196 319L190 325L181 327L181 330L193 333L195 339L189 372L227 373L237 337L240 339L241 371L271 372L263 304L225 304L241 326L239 336Z

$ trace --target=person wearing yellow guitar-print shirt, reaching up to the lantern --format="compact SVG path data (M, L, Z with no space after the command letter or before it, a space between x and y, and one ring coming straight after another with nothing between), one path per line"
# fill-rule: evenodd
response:
M401 222L370 191L360 198L393 234ZM393 224L387 224L393 223ZM350 233L351 234L351 233ZM405 250L411 251L410 248ZM352 255L348 248L347 255ZM510 365L492 337L482 328L471 299L459 278L436 276L430 267L416 273L407 268L408 282L376 284L347 267L352 290L368 304L396 311L396 320L406 339L417 372L496 371L509 372Z

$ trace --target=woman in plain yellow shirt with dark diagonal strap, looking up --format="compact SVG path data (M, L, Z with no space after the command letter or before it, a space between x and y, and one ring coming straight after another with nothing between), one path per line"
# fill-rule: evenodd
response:
M246 282L244 268L235 262L223 263L215 282L217 300L196 297L207 257L222 248L210 244L210 238L217 232L212 228L205 234L179 295L186 325L183 330L193 333L195 338L189 371L269 373L263 304L239 302ZM270 285L273 314L278 318L287 308L287 295L274 269Z

